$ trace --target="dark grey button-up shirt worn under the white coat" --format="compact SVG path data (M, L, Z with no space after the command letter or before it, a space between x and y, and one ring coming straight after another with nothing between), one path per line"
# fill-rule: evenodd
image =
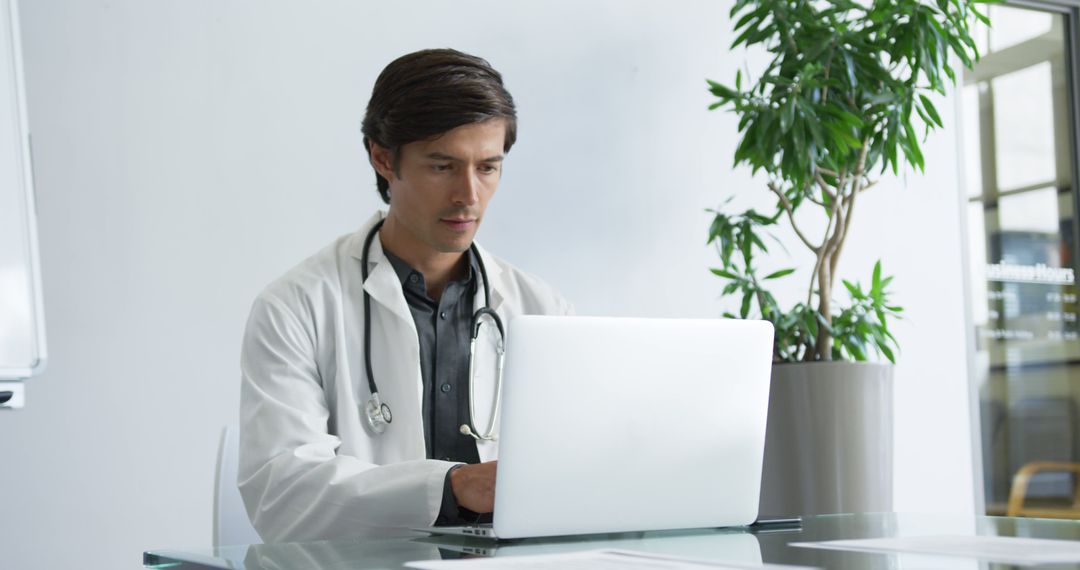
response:
M480 463L476 440L459 431L469 421L469 341L473 298L480 266L468 252L469 271L459 281L446 284L435 301L428 296L423 274L402 258L384 250L408 303L420 341L420 376L423 381L423 440L429 459ZM475 519L459 508L450 491L449 473L443 490L443 507L437 524Z

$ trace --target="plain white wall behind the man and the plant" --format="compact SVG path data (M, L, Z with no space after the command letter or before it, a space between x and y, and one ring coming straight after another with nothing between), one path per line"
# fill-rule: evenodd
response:
M744 57L726 11L24 0L51 363L27 408L0 415L4 566L135 568L147 548L208 546L248 303L378 205L359 125L376 74L408 51L483 55L517 99L489 248L582 313L717 315L703 209L762 195L731 172L734 119L705 110L704 78L730 81ZM926 176L867 195L842 268L865 280L885 257L908 308L896 507L963 513L951 135L927 154Z

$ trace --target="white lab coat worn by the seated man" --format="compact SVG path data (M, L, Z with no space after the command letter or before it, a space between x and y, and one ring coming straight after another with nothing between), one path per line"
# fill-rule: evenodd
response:
M247 514L268 542L379 534L426 527L453 463L426 459L419 341L401 282L376 238L361 277L364 238L378 213L268 286L255 300L241 355L240 467ZM480 249L491 308L568 314L551 287ZM365 421L363 290L372 297L372 367L393 411L381 435ZM483 307L483 287L474 306ZM496 335L476 349L475 425L494 409ZM512 335L512 331L508 331ZM481 461L498 444L477 443Z

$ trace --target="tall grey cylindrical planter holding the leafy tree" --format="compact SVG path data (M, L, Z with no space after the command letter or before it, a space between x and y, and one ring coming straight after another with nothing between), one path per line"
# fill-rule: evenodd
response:
M772 367L760 517L892 511L892 370Z

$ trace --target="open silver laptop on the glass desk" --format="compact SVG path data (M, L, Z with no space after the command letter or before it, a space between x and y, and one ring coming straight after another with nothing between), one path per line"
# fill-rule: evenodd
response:
M534 315L508 330L494 522L426 532L503 540L754 522L770 323Z

